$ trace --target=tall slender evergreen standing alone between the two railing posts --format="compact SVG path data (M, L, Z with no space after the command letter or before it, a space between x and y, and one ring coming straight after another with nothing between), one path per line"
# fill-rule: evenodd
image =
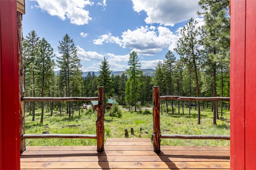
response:
M132 51L132 53L130 53L130 57L129 57L129 61L128 61L128 65L130 66L126 71L128 73L128 75L130 76L129 79L132 82L132 87L133 87L133 102L134 102L134 108L136 111L136 90L137 90L137 86L138 85L138 78L140 76L140 74L142 73L142 71L140 71L140 59L138 59L138 55L135 51Z

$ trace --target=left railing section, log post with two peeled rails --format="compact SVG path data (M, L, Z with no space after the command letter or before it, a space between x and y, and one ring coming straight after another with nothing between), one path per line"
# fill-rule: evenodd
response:
M42 101L96 101L98 100L98 113L96 121L96 135L86 134L24 134L20 140L24 139L42 139L42 138L79 138L79 139L97 139L97 152L104 151L104 113L103 113L103 87L98 87L98 97L22 97L23 102L42 102Z

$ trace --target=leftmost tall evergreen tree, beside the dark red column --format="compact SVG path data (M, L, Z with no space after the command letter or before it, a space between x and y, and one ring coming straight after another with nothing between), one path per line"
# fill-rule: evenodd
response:
M39 37L32 30L23 41L24 88L28 96L35 97L35 59ZM32 102L32 121L35 121L35 102Z

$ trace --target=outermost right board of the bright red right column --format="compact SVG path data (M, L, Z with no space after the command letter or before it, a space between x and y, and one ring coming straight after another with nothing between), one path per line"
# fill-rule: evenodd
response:
M256 2L246 0L245 47L245 168L255 169L256 160Z

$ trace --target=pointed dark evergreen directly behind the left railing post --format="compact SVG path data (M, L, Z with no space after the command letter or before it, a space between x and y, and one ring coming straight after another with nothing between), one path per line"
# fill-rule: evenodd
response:
M113 81L110 77L112 70L110 70L108 61L104 57L103 61L101 61L99 76L97 78L98 86L104 87L104 107L108 101L108 98L113 97L114 95L114 88L113 88ZM105 107L106 108L106 107ZM105 109L104 109L105 111Z

